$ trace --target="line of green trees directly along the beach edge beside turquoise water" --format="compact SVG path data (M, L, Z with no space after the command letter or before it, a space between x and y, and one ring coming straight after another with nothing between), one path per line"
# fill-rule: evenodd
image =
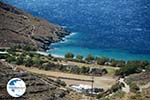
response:
M68 60L74 61L82 61L82 62L93 62L99 65L110 65L113 67L124 67L126 65L135 64L137 66L145 66L145 64L149 64L148 61L124 61L124 60L115 60L106 57L94 57L93 55L89 54L87 57L83 57L82 55L75 56L73 53L65 54L65 58Z

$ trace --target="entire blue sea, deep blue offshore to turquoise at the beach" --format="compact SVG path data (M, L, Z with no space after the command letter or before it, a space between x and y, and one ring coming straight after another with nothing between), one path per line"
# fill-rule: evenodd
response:
M66 26L75 35L50 53L150 60L149 0L0 0Z

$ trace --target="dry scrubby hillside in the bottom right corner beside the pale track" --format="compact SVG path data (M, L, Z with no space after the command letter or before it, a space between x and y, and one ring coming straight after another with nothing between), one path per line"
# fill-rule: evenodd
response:
M111 95L101 98L100 100L150 100L150 72L142 72L129 75L125 78L129 86L129 92L123 86Z

